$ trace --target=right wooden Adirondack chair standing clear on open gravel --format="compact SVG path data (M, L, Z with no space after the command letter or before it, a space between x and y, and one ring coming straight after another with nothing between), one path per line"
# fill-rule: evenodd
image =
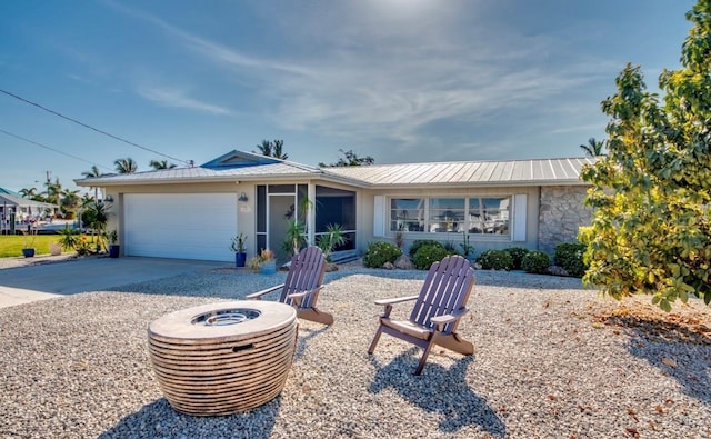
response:
M474 270L461 256L450 256L432 263L419 296L377 300L385 307L368 353L373 353L382 332L424 349L414 375L422 373L432 346L439 345L463 355L474 353L474 346L457 333L459 320L469 310L467 300L474 286ZM414 300L408 320L392 320L392 305Z

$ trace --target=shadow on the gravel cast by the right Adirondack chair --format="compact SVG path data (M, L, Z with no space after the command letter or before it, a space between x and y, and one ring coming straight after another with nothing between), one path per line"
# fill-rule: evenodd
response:
M507 428L487 400L478 396L467 385L464 376L474 356L463 357L449 369L428 362L421 376L412 375L421 350L417 348L395 357L389 365L381 366L374 356L370 361L375 368L369 391L378 393L393 388L402 398L422 410L439 413L442 418L440 430L453 433L468 425L478 425L482 430L497 437L504 437Z

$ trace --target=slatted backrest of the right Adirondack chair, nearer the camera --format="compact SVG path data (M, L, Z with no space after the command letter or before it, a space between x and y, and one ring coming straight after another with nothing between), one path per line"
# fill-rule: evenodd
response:
M448 256L432 263L420 296L414 302L410 321L432 328L430 319L453 312L467 306L474 286L474 269L461 256ZM442 332L457 329L457 321L448 323Z

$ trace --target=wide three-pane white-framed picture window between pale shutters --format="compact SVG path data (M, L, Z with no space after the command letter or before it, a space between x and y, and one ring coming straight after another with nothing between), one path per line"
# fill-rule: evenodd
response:
M390 231L508 236L510 218L510 196L390 199Z

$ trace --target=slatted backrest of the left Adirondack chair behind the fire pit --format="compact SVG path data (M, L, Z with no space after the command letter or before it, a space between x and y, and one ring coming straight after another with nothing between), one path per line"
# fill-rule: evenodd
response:
M287 298L288 295L319 288L323 283L324 275L326 258L320 248L310 246L299 251L298 255L291 258L289 273L279 301L292 305L293 301ZM316 303L318 296L318 293L306 296L301 300L300 308L311 308Z

